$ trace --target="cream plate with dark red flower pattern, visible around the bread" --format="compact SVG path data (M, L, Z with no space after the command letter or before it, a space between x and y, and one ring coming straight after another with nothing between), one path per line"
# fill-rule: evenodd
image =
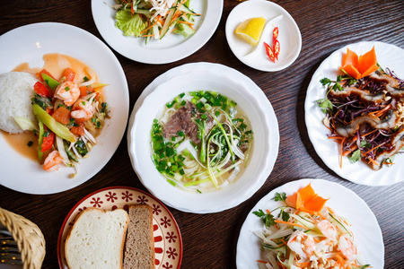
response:
M104 201L100 199L100 197L93 197L95 195L99 195L102 192L109 191L107 195L105 195L106 204ZM122 196L120 201L118 195L116 193L111 192L119 192ZM126 193L125 193L126 192ZM133 202L129 202L134 200L131 196L134 193L138 193L137 200ZM143 195L143 196L141 196ZM135 197L135 195L134 195ZM124 199L125 198L125 199ZM91 199L93 201L91 201ZM116 201L114 201L116 200ZM153 204L154 200L155 204ZM110 202L111 201L111 202ZM116 203L115 203L116 202ZM120 204L119 204L120 202ZM162 204L160 200L158 200L154 195L150 195L143 190L134 188L134 187L104 187L97 191L92 192L89 195L86 195L81 199L75 206L70 210L70 212L66 215L66 219L62 224L62 227L59 231L59 236L57 239L57 261L60 268L67 268L64 246L62 246L63 242L66 239L67 233L69 231L69 225L73 224L75 218L78 213L80 213L86 206L83 206L83 209L80 208L84 204L92 204L93 207L97 207L100 209L116 209L116 208L124 208L127 207L128 204L150 204L153 208L153 218L154 218L154 247L156 250L156 256L154 260L155 269L179 269L182 261L182 238L180 234L180 229L178 227L177 221L175 221L171 212L168 208ZM108 203L108 204L107 204ZM115 203L115 204L114 204ZM102 204L102 205L101 205ZM114 205L112 205L114 204ZM118 204L118 205L117 205ZM125 204L125 205L122 205ZM112 205L112 206L111 206ZM162 214L161 219L159 215ZM171 222L173 223L171 227ZM165 263L165 264L164 264ZM175 267L177 266L177 267Z

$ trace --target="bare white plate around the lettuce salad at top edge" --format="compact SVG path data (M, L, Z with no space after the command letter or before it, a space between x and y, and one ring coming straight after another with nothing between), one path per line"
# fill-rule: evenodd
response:
M167 34L163 39L145 39L124 36L115 27L116 10L110 5L114 0L92 0L92 18L103 39L122 56L145 64L167 64L190 56L202 48L214 34L223 11L223 0L191 0L196 13L195 33L187 39L180 35Z

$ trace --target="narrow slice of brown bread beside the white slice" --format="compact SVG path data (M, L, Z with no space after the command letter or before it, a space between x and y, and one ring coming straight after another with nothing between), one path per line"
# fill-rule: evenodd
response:
M150 205L129 206L124 269L154 269L153 210Z

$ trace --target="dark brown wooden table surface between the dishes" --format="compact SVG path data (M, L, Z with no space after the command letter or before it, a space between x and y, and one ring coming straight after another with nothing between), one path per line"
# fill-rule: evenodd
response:
M255 195L221 213L183 213L169 208L182 235L181 267L235 268L236 244L242 222L254 204L275 187L291 180L323 178L353 190L364 199L382 229L385 268L403 268L404 184L401 182L390 187L366 187L338 177L314 152L304 123L304 99L312 74L334 50L363 40L382 41L404 48L404 1L273 2L280 4L294 17L303 39L300 56L283 71L260 72L242 64L233 55L225 39L224 29L229 13L239 4L234 0L224 0L221 21L206 45L180 61L166 65L146 65L127 59L112 49L127 75L129 112L141 92L159 74L179 65L206 61L233 67L249 76L265 92L277 115L280 133L277 162L267 181ZM2 0L1 3L1 34L34 22L64 22L87 30L103 41L92 20L91 1ZM4 177L1 167L2 164L0 177ZM145 190L129 160L127 133L107 165L81 186L53 195L22 194L0 186L0 206L21 214L40 227L47 242L43 268L57 268L57 236L66 214L85 195L111 186ZM368 236L372 237L372 234Z

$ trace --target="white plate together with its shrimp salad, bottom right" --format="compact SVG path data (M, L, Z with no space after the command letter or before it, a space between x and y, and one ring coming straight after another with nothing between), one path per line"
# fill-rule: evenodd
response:
M282 223L285 223L285 225L289 225L290 222L288 221L294 218L298 220L299 216L302 215L302 213L304 213L304 209L301 209L300 213L299 211L296 211L297 213L295 214L286 213L287 209L285 209L285 212L281 212L279 216L277 216L279 210L282 210L282 208L284 208L282 207L283 205L285 205L284 201L286 201L286 204L289 204L290 201L293 201L293 199L290 198L292 198L293 196L295 197L297 192L301 192L303 194L303 189L308 190L309 187L314 191L313 195L317 194L318 196L316 197L317 198L320 197L322 203L325 204L322 205L323 210L321 212L324 211L328 212L326 219L323 220L322 218L319 218L318 221L320 222L316 224L317 225L316 229L321 230L321 233L324 232L324 234L327 236L327 239L325 239L325 241L323 240L322 243L325 243L327 240L333 240L331 239L331 237L334 233L332 232L329 233L329 230L340 230L342 235L339 236L336 235L338 236L339 250L334 252L327 252L326 250L324 250L326 248L322 248L323 250L319 250L321 249L320 244L321 239L323 238L321 237L316 238L315 229L308 231L307 233L299 231L300 228L297 226L302 227L302 225L297 223L305 223L304 225L310 225L310 223L312 223L310 222L312 219L308 218L307 213L306 216L304 216L305 219L304 218L300 219L300 221L303 222L300 221L295 222L296 223L294 224L295 231L293 232L292 235L291 232L285 230L285 233L283 235L284 238L286 234L290 235L289 239L284 239L284 241L288 240L287 250L282 247L274 247L277 245L273 241L272 242L267 241L268 243L266 243L266 245L263 245L262 236L265 235L266 239L271 240L271 236L269 235L269 233L273 232L274 235L272 238L275 239L277 238L277 236L275 235L277 229L273 229L272 231L269 232L264 231L265 225L261 215L264 215L265 213L267 213L267 210L269 210L270 214L274 216L274 219L277 222L277 225L279 226L278 231L282 231L285 228L280 227L281 225L284 225ZM305 194L308 195L309 192L305 192ZM289 217L289 220L285 221L284 218L285 213L287 215L286 219L287 217ZM335 219L329 219L329 218L335 218ZM284 221L281 221L280 219ZM329 219L330 222L326 221L327 219ZM322 227L320 226L321 223L326 222L328 222L330 225L324 225ZM267 227L276 224L275 222L272 224L267 224L267 222L265 223ZM331 228L332 225L336 225L337 228ZM269 228L267 229L270 230ZM303 252L302 249L296 247L296 245L292 243L294 241L293 239L294 234L298 235L299 232L301 233L302 237L304 236L308 237L308 239L302 239L303 244L306 244L306 248L303 248L305 249L303 250ZM347 239L348 236L349 239ZM282 237L282 235L280 237ZM325 260L329 261L329 263L332 263L333 261L331 261L331 259L334 259L334 261L338 260L339 262L343 262L345 260L346 263L348 261L351 261L351 263L353 261L360 261L357 264L354 263L355 266L359 265L359 263L362 264L363 267L358 266L358 268L359 267L367 268L368 265L371 266L369 268L383 268L384 245L382 239L382 230L380 229L376 217L374 216L369 206L364 202L364 200L362 200L358 195L356 195L356 193L354 193L347 187L343 187L338 183L318 178L315 179L304 178L286 183L285 185L277 187L274 190L270 191L268 195L262 197L259 200L259 202L256 205L254 205L254 207L250 210L250 213L248 213L246 220L242 224L242 229L240 231L239 239L237 242L237 251L236 251L237 268L238 269L268 268L265 264L269 262L272 263L272 261L276 263L275 259L277 259L276 258L277 255L279 256L278 258L283 263L285 263L285 265L288 266L287 268L303 268L303 267L313 268L313 267L305 267L309 266L305 264L311 264L311 262L307 263L304 261L299 262L298 267L296 267L296 265L293 265L296 261L295 259L294 261L291 261L290 258L282 255L283 251L287 251L287 253L289 253L290 250L290 256L297 257L297 260L305 259L307 261L307 259L309 259L307 255L311 255L309 253L310 246L307 245L307 243L310 242L309 238L311 237L312 239L314 239L312 240L313 244L314 242L316 242L315 243L316 250L314 251L314 253L316 253L316 251L319 251L317 255L321 256L320 260L318 260L319 263ZM347 239L347 242L351 243L353 242L353 244L343 244L345 239ZM281 243L280 245L283 244ZM325 245L329 246L329 243ZM283 245L283 247L285 247L285 245ZM269 249L271 249L271 251L268 254ZM275 256L273 256L274 252L277 253L275 254ZM336 255L338 255L337 258ZM321 258L323 258L322 261ZM317 259L318 258L314 258L312 256L310 257L310 260L317 260ZM259 267L261 265L262 267Z

